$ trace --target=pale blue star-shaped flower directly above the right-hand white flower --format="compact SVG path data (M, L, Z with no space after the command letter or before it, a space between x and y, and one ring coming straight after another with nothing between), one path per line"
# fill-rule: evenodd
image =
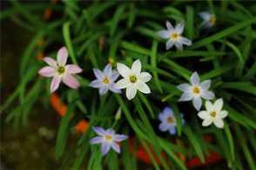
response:
M211 100L214 98L212 91L208 90L211 85L211 80L200 82L199 75L194 72L190 77L191 84L183 83L177 88L183 91L183 94L179 98L179 101L192 101L193 106L199 110L202 106L202 98Z

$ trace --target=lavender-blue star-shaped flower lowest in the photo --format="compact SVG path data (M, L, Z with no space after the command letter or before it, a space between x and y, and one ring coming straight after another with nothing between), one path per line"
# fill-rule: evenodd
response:
M128 138L124 134L115 134L115 131L111 128L104 130L102 127L93 127L94 132L98 134L97 137L91 139L91 144L101 143L101 154L107 154L112 148L118 154L121 152L118 142L124 141Z

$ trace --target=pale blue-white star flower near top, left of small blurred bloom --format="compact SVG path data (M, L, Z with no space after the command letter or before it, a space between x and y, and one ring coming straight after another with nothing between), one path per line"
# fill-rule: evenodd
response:
M184 30L184 22L178 23L175 28L172 27L172 23L166 21L167 29L157 32L158 36L164 39L168 39L166 42L166 49L171 49L173 45L179 50L183 49L183 44L191 45L192 42L188 38L181 36Z

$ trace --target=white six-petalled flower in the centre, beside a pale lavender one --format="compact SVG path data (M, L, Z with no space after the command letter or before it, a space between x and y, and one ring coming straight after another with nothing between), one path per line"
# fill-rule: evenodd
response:
M124 78L116 83L116 88L126 88L126 97L131 100L135 97L137 90L149 94L151 89L145 82L152 79L152 75L147 72L141 72L141 62L136 60L132 63L131 69L123 63L117 63L118 72Z

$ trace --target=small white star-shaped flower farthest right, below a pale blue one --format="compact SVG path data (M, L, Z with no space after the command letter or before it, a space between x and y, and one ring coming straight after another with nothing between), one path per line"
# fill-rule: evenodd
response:
M200 111L198 114L199 118L204 120L202 126L207 127L213 122L216 127L223 128L224 122L222 119L227 116L228 112L226 110L222 110L222 107L223 100L221 98L213 104L211 101L205 101L206 110Z

